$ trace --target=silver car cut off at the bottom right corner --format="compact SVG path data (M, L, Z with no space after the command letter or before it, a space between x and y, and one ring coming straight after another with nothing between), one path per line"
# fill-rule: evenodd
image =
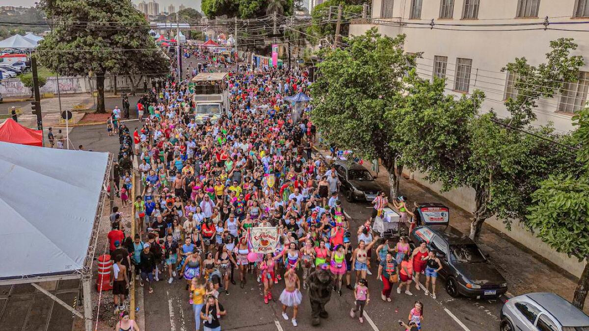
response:
M554 293L512 297L501 308L502 331L589 331L589 316Z

